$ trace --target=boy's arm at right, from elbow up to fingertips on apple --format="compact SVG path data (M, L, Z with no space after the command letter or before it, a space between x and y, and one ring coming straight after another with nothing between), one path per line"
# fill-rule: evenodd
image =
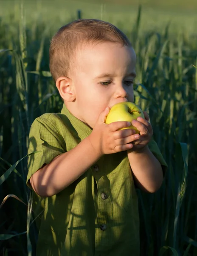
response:
M132 125L140 131L140 135L127 153L136 185L146 192L153 193L162 185L163 171L165 174L167 165L159 154L157 144L152 140L153 130L148 122L149 116L146 112L144 116L145 119L138 117L137 120L132 120Z

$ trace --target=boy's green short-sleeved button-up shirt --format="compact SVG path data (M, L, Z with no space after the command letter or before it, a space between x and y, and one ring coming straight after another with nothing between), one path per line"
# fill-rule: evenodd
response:
M28 154L39 152L28 157L27 185L31 188L29 179L43 164L74 148L91 131L64 104L61 113L36 118ZM149 148L166 166L154 140ZM140 254L138 198L127 151L104 155L57 195L40 198L34 193L34 212L42 211L37 256Z

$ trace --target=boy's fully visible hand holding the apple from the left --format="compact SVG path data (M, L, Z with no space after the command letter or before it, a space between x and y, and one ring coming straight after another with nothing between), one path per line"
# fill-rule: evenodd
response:
M130 122L112 122L106 124L105 120L109 112L109 107L101 112L92 133L87 137L100 156L129 150L133 147L131 142L138 140L140 137L139 134L135 134L135 130L119 130L129 127L131 125Z

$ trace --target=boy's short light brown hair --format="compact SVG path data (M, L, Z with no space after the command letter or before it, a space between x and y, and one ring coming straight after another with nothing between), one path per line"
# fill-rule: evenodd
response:
M76 49L89 43L101 42L131 46L127 36L106 21L81 19L62 26L53 36L49 50L50 71L54 81L60 76L68 76Z

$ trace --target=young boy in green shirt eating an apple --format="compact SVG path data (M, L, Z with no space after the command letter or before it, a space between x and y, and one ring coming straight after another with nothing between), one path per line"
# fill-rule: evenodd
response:
M138 256L135 186L157 191L166 162L145 119L105 124L133 102L136 56L126 35L101 20L76 20L51 41L50 70L64 104L36 118L27 185L44 212L37 256ZM163 170L162 170L163 169ZM134 185L135 182L135 185Z

